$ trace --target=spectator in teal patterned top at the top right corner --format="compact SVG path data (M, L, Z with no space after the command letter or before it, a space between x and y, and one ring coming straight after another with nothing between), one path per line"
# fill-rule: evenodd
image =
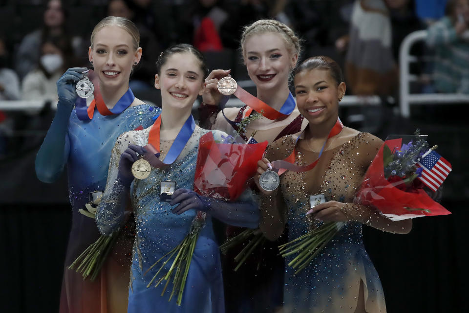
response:
M428 28L426 44L435 48L434 87L469 94L469 0L448 0L445 17Z

